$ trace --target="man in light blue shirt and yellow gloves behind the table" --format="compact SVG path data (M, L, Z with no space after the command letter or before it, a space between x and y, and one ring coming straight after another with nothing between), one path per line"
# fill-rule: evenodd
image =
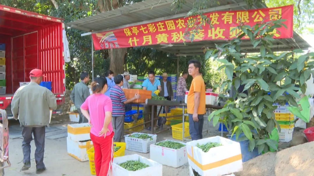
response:
M152 91L152 96L157 96L154 92L158 89L159 91L161 91L161 85L160 85L160 81L158 79L155 78L155 72L154 71L149 71L148 72L148 78L143 82L142 84L142 88L143 90L150 90ZM150 113L152 112L152 106L151 105L146 105L144 106L144 112L145 112L145 117L144 117L144 120L145 122L148 122L150 120L149 118L149 114L147 113ZM155 118L157 117L157 106L154 107L154 117L152 118ZM156 125L157 121L154 120L154 124ZM146 123L145 124L145 127L147 130L151 130L151 123Z

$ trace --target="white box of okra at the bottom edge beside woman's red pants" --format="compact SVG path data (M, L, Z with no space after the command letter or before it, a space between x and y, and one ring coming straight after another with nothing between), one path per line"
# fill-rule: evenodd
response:
M112 176L162 176L162 165L138 154L113 159Z

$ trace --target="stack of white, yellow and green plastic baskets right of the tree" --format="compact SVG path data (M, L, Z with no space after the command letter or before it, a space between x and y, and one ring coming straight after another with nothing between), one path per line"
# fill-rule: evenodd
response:
M290 142L294 130L294 115L289 112L289 105L276 106L278 106L278 108L274 111L275 119L281 128L281 131L279 132L279 141Z

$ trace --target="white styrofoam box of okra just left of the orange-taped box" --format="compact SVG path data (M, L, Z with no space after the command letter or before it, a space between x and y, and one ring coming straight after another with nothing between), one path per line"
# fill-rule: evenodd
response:
M185 143L165 140L150 145L150 159L173 168L187 163L187 147Z

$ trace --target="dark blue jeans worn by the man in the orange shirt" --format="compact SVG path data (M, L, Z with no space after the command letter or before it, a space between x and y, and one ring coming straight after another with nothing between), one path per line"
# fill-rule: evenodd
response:
M204 115L198 115L198 122L193 121L193 114L189 114L189 128L192 141L203 139Z

